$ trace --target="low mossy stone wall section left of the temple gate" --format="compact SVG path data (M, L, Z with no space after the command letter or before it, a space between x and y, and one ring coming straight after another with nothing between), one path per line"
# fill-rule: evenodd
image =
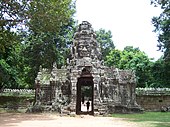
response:
M35 90L3 89L0 90L0 108L18 110L26 109L34 101Z

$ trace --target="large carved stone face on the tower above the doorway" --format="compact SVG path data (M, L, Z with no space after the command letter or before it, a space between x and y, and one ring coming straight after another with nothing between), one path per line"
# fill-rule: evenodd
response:
M90 45L86 41L79 43L78 55L80 57L89 57L90 56Z

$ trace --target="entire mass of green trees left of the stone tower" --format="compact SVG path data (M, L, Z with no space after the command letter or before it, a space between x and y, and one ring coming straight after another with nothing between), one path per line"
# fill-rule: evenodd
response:
M65 64L74 12L72 0L1 1L0 88L33 88L40 65Z

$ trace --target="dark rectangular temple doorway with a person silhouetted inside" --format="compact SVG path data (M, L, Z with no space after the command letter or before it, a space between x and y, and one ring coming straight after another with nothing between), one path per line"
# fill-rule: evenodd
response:
M76 114L94 114L93 89L93 77L78 78Z

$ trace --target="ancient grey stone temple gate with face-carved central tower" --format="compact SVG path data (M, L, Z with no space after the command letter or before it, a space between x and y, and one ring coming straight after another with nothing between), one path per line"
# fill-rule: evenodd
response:
M65 114L140 111L136 103L134 73L103 65L100 47L89 22L79 25L70 50L67 66L58 69L54 63L52 71L40 68L35 81L37 102L48 110Z

